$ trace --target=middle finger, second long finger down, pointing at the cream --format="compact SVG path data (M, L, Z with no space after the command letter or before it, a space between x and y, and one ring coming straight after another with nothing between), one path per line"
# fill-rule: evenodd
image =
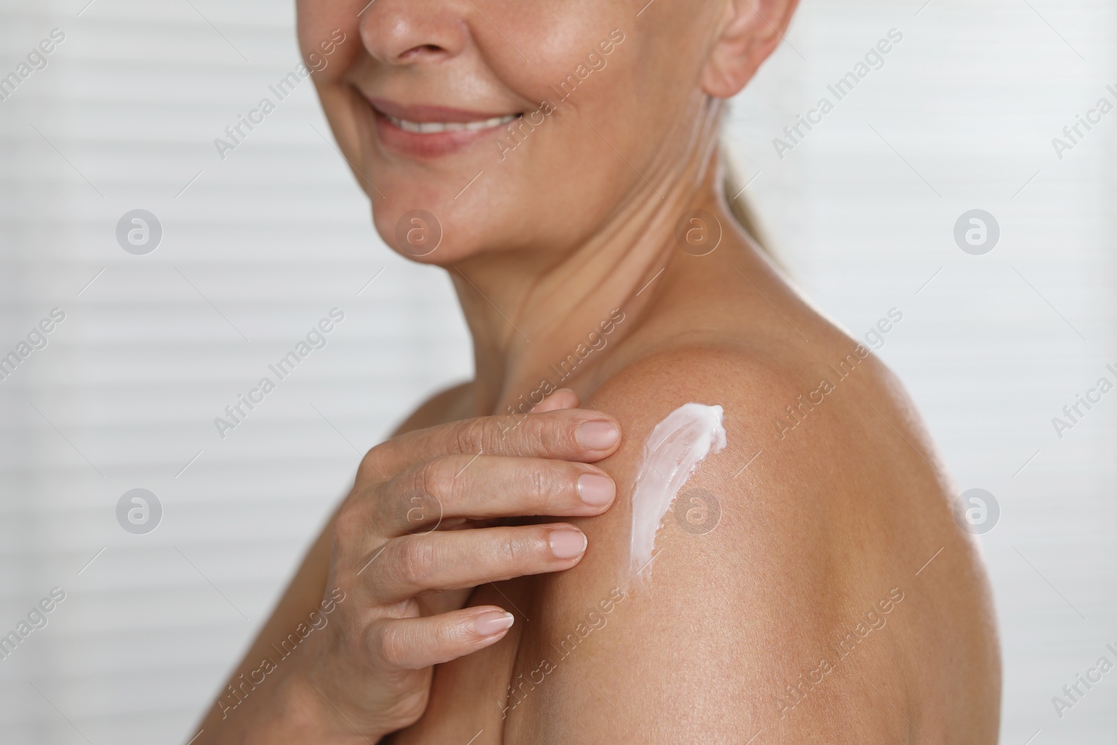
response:
M403 535L451 518L600 515L617 486L600 468L569 460L442 456L404 469L383 493L373 524Z

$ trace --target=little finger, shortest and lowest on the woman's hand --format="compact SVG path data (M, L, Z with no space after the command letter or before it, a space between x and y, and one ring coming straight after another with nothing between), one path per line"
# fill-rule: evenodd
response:
M420 670L500 641L515 619L495 605L449 613L384 619L369 629L369 648L382 667Z

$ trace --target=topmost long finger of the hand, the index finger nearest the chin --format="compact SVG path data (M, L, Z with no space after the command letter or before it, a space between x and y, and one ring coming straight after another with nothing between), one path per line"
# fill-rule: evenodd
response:
M594 462L620 445L620 424L609 414L585 409L479 417L408 432L376 446L364 458L370 474L395 474L443 455L557 458Z

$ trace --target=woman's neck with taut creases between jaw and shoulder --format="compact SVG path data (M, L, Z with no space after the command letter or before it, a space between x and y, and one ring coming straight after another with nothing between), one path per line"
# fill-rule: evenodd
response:
M475 413L526 412L554 388L579 390L679 280L679 218L703 209L732 221L718 189L720 106L700 111L680 152L653 163L595 235L547 252L561 258L490 251L447 267L474 340Z

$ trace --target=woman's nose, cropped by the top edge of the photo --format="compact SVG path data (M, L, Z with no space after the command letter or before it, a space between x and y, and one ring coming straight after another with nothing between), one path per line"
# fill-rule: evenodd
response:
M468 44L469 9L446 0L373 0L361 13L361 42L384 65L445 61Z

